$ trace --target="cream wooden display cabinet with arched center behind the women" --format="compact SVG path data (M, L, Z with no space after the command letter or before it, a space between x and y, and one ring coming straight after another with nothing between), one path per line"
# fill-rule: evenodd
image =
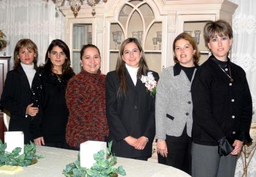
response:
M60 9L66 16L66 42L73 52L79 50L74 49L73 38L86 38L81 33L73 32L74 25L91 24L92 43L101 52L101 71L104 74L113 71L116 66L119 44L115 43L113 32L118 31L121 33L121 41L136 36L134 32L143 33L141 45L149 69L160 75L163 68L174 65L172 42L184 31L192 31L194 36L194 30L201 30L199 64L207 60L208 50L203 39L205 22L224 19L231 24L237 7L238 5L227 0L108 0L106 3L100 1L96 5L95 16L91 15L88 4L82 5L76 18L70 7ZM157 37L157 32L162 33L161 48L159 41L156 48L152 41ZM71 57L73 67L77 56L78 54L76 57L73 54ZM153 154L153 161L157 161L156 153Z

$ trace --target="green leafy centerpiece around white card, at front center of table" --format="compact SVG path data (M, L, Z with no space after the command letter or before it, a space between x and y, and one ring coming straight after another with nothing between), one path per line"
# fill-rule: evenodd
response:
M65 176L88 176L88 177L107 177L107 176L118 176L126 175L122 166L114 167L116 164L117 158L111 153L112 142L108 143L107 148L107 159L104 158L104 151L100 150L98 153L93 155L94 160L96 161L93 166L88 169L80 166L80 154L78 154L77 161L66 165L66 168L63 170L62 174Z

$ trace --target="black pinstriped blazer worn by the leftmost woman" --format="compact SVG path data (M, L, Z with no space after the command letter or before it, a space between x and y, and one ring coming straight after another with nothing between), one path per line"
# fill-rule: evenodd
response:
M40 76L36 72L32 87L38 77ZM26 108L30 103L32 103L32 92L29 86L29 80L22 66L19 64L16 69L7 73L4 90L1 95L1 106L10 112L9 131L23 131L24 144L34 141L29 131L32 117L26 116Z

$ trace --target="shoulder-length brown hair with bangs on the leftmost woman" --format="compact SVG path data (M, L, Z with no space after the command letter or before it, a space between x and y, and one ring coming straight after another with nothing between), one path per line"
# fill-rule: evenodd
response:
M37 45L30 39L21 39L16 43L15 49L14 49L14 54L13 54L13 60L14 60L14 66L13 68L16 69L18 65L21 63L20 57L19 57L19 52L20 49L32 49L35 52L35 57L33 60L34 63L34 68L37 68L37 60L38 60L38 50L37 50Z

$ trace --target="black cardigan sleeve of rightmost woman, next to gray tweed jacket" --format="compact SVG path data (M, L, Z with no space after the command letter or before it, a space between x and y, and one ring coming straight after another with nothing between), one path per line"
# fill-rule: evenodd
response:
M193 100L193 121L216 141L225 136L213 115L210 93L212 75L209 72L197 71L191 85Z

